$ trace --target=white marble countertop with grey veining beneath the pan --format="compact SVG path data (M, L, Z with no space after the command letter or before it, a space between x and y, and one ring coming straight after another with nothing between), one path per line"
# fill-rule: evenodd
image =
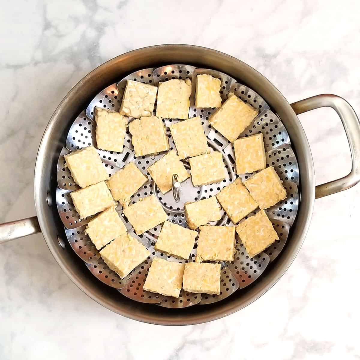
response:
M359 114L359 11L346 0L3 2L0 220L35 214L36 152L60 100L131 49L207 46L258 69L289 102L334 93ZM345 175L350 152L336 114L320 109L300 120L316 182ZM67 278L41 234L3 244L0 359L359 359L359 195L360 185L316 200L283 278L242 311L189 327L142 324L98 305Z

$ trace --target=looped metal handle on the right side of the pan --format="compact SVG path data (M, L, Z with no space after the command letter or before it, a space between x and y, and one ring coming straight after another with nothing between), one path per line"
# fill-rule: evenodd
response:
M354 109L343 98L332 94L321 94L291 104L295 113L322 108L333 108L344 126L351 153L351 171L341 179L317 185L315 199L351 188L360 181L360 123Z

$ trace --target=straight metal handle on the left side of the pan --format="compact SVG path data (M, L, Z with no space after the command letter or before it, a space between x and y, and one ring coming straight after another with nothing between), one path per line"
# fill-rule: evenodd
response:
M27 235L40 233L39 221L37 216L28 217L27 219L4 222L0 224L0 244L7 241L22 238Z

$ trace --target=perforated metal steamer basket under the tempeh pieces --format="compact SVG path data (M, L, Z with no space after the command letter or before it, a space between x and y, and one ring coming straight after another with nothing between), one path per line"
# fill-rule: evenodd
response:
M88 219L80 219L71 204L69 196L72 190L78 188L73 182L71 175L64 165L64 154L70 151L80 149L89 145L96 146L95 128L96 124L93 120L95 106L104 107L118 111L120 108L120 99L125 89L126 80L141 81L146 84L158 85L160 81L167 81L174 78L192 80L192 95L190 97L190 113L189 116L199 116L202 121L204 132L207 134L208 145L214 150L220 151L223 155L223 161L227 170L226 178L219 184L203 185L194 187L191 179L187 179L181 183L180 187L180 200L177 202L174 199L172 192L162 194L154 181L150 180L139 191L132 196L131 202L135 203L138 198L155 194L161 202L163 208L169 216L169 221L186 226L184 203L187 201L198 201L200 199L215 196L224 186L229 185L237 177L234 168L235 158L233 145L219 134L215 129L212 129L208 119L209 116L215 111L212 108L197 109L194 107L195 103L195 81L196 75L202 73L209 73L212 76L221 79L221 97L225 100L230 91L234 92L237 96L242 98L245 102L250 103L253 107L259 110L259 115L254 120L253 124L246 129L241 136L248 136L262 132L264 134L264 144L266 149L266 158L268 165L274 166L279 176L283 180L284 186L287 189L288 198L276 204L267 210L267 214L272 219L275 230L279 234L279 240L276 241L265 252L250 257L242 244L237 238L237 247L235 259L230 264L222 263L221 269L221 292L220 295L207 295L207 294L192 294L181 291L179 298L164 297L159 294L149 293L143 290L143 283L145 282L147 272L151 265L154 256L168 258L171 261L187 262L192 261L196 255L197 241L195 242L194 250L188 260L180 260L172 256L167 256L154 249L154 244L161 230L161 226L156 226L147 231L140 238L131 229L131 225L127 222L126 218L123 220L127 229L132 235L138 238L151 252L150 257L143 264L140 264L134 271L126 278L120 277L110 270L102 261L98 251L91 243L89 237L84 234L84 224L89 221ZM129 119L131 121L132 118ZM171 123L177 122L176 119L165 119L165 124L169 126ZM170 149L174 149L174 141L171 137L170 131L167 131L167 136L170 144ZM100 157L109 175L111 176L118 170L134 161L136 166L145 175L149 176L147 168L155 161L161 158L164 154L157 154L152 156L136 157L131 144L131 135L127 131L125 138L124 150L122 153L108 152L98 150ZM187 162L184 162L186 168L189 169ZM273 261L280 253L285 245L289 227L293 223L297 207L298 207L298 192L297 185L299 183L299 172L297 160L291 149L289 136L285 127L279 118L270 111L269 106L265 101L251 89L237 83L230 76L214 71L211 69L197 69L188 65L169 65L161 68L149 68L132 73L126 78L113 84L101 93L99 93L89 104L85 112L82 112L74 121L71 129L69 130L66 148L62 150L59 156L58 168L58 195L57 204L60 217L65 225L66 234L69 243L73 247L77 255L85 261L86 266L91 273L105 284L118 289L123 295L139 302L156 303L166 307L187 307L197 303L207 304L220 301L227 296L231 295L237 289L244 288L254 282L266 269L270 261ZM252 174L240 175L243 180L248 179ZM118 209L121 214L121 207ZM255 213L255 212L254 212ZM231 225L230 219L221 209L221 219L213 225ZM81 225L80 227L78 227Z

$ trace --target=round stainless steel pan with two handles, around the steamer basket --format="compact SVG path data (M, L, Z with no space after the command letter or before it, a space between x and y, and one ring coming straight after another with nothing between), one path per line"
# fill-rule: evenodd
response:
M225 300L178 311L121 296L99 282L65 241L64 227L53 198L57 188L57 161L73 119L104 87L136 69L168 63L193 64L217 69L255 90L281 118L297 154L301 176L301 201L296 221L282 253L252 285ZM350 145L352 169L341 179L315 186L314 164L309 143L297 114L319 107L332 107L339 115ZM360 124L344 99L323 94L289 104L276 87L247 64L219 51L191 45L159 45L130 51L99 66L69 91L51 117L37 154L34 197L37 216L0 225L0 242L42 232L60 267L87 295L108 309L131 319L164 325L197 324L222 318L242 309L270 289L296 257L309 228L316 198L346 190L360 181Z

